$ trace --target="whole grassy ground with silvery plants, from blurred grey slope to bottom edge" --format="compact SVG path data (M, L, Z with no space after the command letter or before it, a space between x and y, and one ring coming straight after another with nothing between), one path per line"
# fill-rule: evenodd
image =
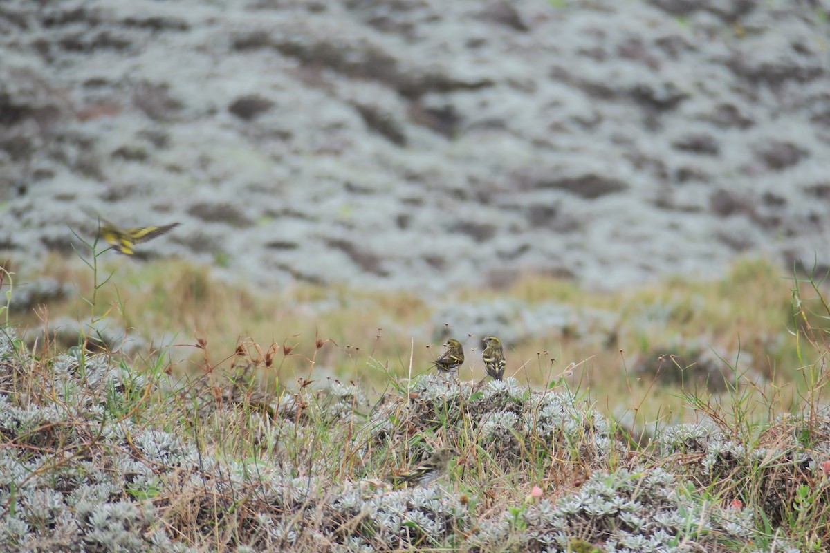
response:
M77 294L16 308L32 274ZM2 546L830 546L830 308L823 284L767 262L617 293L529 277L438 298L575 313L508 344L502 384L477 383L477 337L460 383L430 382L442 328L411 293L268 294L122 258L32 274L14 275L0 348ZM16 337L62 316L175 338L125 355ZM386 483L442 444L461 454L437 486Z

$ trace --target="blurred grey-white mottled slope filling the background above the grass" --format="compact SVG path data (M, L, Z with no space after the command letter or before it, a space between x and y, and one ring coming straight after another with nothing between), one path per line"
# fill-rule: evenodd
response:
M3 0L0 251L444 289L830 264L828 0Z

